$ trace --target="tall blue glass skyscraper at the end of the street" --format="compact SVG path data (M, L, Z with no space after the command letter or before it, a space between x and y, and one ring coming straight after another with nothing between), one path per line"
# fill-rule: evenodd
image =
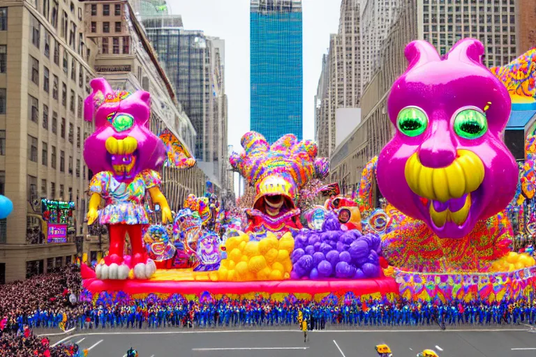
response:
M301 0L251 0L251 130L302 137Z

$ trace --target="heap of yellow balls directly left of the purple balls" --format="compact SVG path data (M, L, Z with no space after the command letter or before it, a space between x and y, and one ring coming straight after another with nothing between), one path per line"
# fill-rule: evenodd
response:
M260 241L250 241L248 234L228 238L225 242L227 259L217 272L220 281L285 280L290 278L294 238L287 233L278 239L268 233Z

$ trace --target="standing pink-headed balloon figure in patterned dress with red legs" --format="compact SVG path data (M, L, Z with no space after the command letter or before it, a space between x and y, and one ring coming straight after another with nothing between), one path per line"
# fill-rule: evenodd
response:
M172 220L158 169L165 160L161 139L149 130L150 98L146 91L112 91L103 78L91 81L93 92L84 105L84 119L95 118L96 130L84 142L84 160L95 174L89 184L88 224L97 218L108 225L110 254L96 267L99 279L148 279L156 271L142 243L142 225L149 220L146 192L160 204L163 221ZM98 210L101 199L103 209ZM124 257L125 236L133 256Z

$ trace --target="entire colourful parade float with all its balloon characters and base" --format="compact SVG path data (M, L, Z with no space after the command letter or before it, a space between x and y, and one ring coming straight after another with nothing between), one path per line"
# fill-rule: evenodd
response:
M247 132L230 163L248 182L251 205L225 211L217 197L191 195L171 212L158 170L174 156L165 144L174 139L147 129L149 93L115 92L94 79L86 102L87 119L96 120L84 149L96 172L88 220L110 226L110 254L95 272L82 270L83 299L530 294L536 261L512 251L509 211L520 197L532 199L533 163L520 180L502 142L512 92L500 78L519 75L507 75L515 63L492 73L483 54L473 39L443 57L429 43L410 43L408 70L387 103L394 137L364 168L358 197L324 185L315 190L327 195L323 206L299 204L306 185L329 171L315 143L285 135L270 144ZM162 224L149 224L148 211ZM131 256L121 254L126 233Z

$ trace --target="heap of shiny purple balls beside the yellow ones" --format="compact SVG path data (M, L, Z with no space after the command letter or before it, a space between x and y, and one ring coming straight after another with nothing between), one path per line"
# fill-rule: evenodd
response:
M364 279L380 276L381 238L343 231L334 213L328 213L322 231L302 229L294 234L293 279Z

